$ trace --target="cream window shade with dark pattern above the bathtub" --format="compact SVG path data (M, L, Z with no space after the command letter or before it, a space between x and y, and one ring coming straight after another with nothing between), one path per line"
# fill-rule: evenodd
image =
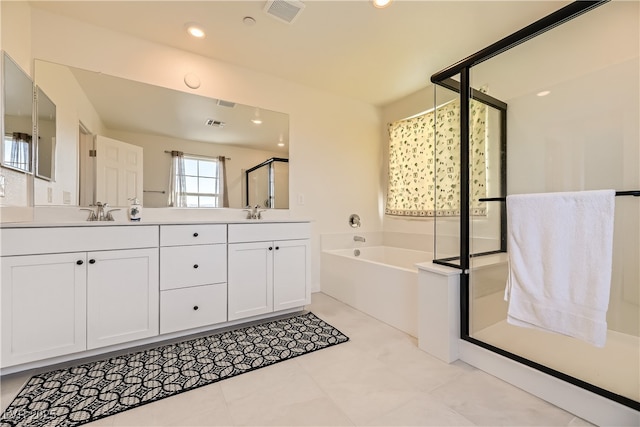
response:
M487 107L471 101L471 213L485 215ZM389 124L387 215L460 214L460 101Z

